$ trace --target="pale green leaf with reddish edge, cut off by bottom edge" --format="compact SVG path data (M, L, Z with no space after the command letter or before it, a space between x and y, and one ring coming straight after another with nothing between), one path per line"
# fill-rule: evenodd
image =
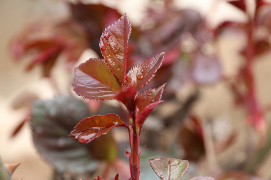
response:
M186 172L189 162L175 158L153 158L150 164L163 180L179 180Z

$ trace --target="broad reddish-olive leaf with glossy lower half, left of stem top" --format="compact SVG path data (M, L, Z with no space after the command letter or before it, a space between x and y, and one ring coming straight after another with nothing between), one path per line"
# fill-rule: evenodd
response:
M121 89L120 82L99 58L90 58L76 67L74 73L73 89L84 98L113 99L116 91Z

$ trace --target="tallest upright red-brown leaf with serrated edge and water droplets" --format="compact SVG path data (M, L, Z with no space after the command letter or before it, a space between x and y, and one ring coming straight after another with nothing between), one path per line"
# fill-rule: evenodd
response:
M100 38L100 49L105 62L113 74L124 83L126 78L126 56L131 23L123 14L117 22L107 27Z

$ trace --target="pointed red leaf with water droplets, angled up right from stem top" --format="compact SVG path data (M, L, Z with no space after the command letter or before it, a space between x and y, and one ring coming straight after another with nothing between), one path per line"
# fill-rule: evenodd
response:
M132 84L136 90L147 84L161 66L164 54L157 54L131 68L127 73L127 83Z

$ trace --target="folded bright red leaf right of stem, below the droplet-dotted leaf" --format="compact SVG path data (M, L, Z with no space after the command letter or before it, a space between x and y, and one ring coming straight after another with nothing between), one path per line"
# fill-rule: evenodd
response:
M141 94L139 94L135 101L137 102L137 107L139 108L138 117L139 124L142 125L148 115L151 113L153 108L160 102L162 93L164 91L165 84L161 85L156 89L149 89Z

